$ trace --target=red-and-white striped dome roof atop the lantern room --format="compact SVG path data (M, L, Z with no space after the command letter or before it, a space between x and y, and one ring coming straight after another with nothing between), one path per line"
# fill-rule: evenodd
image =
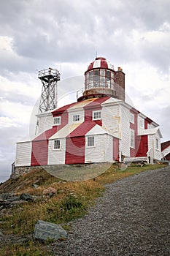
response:
M113 69L114 70L113 65L110 64L109 61L107 61L107 59L105 59L103 57L97 57L95 59L95 61L91 62L90 65L88 66L87 71L89 71L90 69L96 69L96 68Z

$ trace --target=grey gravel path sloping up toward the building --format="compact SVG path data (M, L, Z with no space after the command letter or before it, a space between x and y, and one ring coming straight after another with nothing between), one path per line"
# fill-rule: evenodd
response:
M170 167L106 186L55 255L170 255Z

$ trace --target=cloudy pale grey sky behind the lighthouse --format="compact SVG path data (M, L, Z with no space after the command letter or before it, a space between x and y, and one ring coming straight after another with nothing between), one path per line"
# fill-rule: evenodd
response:
M11 173L16 142L34 133L38 71L61 72L65 105L96 56L123 68L127 96L170 140L169 10L169 0L1 0L0 176Z

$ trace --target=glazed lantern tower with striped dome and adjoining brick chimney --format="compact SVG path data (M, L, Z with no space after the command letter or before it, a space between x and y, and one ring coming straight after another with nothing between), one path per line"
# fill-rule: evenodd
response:
M78 102L106 95L125 100L125 74L120 67L115 71L104 57L96 57L85 71L85 91Z

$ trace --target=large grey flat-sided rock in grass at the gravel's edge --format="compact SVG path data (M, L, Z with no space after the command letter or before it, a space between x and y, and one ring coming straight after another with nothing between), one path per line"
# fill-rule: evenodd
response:
M39 220L35 225L35 238L42 241L57 241L67 238L68 234L61 225Z

